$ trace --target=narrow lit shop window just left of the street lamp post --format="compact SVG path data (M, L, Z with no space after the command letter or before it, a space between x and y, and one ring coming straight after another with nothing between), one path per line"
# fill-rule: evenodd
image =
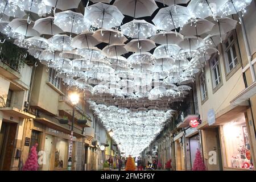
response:
M67 164L68 159L68 143L67 140L57 138L56 151L55 151L55 168L64 168L64 164Z

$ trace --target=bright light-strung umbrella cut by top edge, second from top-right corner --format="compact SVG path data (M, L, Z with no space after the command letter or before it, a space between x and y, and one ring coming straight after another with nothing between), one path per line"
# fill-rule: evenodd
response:
M196 18L216 17L220 7L228 0L192 0L188 4L188 10Z

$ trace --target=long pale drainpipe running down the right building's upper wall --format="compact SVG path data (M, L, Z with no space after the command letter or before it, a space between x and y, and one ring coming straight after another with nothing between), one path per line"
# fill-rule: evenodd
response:
M241 12L239 12L238 15L241 19L241 28L242 28L243 40L245 40L245 49L246 49L246 53L247 53L247 57L248 57L249 67L250 67L250 71L251 71L251 77L253 78L253 82L255 82L255 72L254 72L254 69L253 69L253 64L251 64L251 54L250 54L249 43L248 43L248 39L247 39L247 36L246 36L246 31L245 31L245 24L243 22Z

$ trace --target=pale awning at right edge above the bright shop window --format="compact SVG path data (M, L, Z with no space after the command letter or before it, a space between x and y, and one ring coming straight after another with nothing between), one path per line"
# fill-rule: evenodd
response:
M249 98L253 97L256 94L256 81L253 82L249 87L244 89L240 94L237 95L236 98L234 98L230 104L234 106L243 105L243 103Z

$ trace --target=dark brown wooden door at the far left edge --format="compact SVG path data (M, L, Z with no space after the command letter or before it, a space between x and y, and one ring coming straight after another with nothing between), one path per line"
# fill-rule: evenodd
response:
M16 123L2 122L0 131L0 170L10 170L16 127Z

